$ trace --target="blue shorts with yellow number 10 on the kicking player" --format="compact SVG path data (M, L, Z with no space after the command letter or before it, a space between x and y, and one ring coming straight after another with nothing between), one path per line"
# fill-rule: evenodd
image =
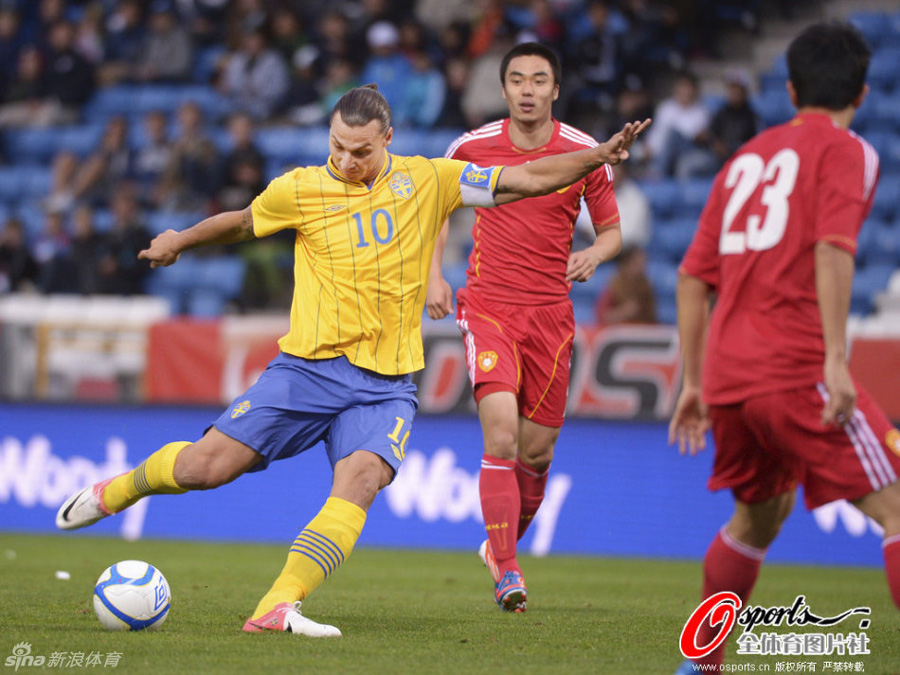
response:
M324 441L332 469L368 450L396 476L417 407L410 375L379 375L343 356L317 361L282 352L214 426L262 455L251 471Z

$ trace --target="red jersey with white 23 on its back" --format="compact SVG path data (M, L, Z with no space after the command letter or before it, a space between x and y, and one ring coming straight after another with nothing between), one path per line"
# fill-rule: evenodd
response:
M822 381L815 245L855 255L877 180L872 146L824 114L764 131L725 164L681 264L718 294L703 363L708 403Z

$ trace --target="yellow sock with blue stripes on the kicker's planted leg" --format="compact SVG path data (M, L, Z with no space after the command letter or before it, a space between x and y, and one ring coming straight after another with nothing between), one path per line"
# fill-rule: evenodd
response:
M281 574L253 613L258 619L282 602L303 600L350 557L366 524L356 504L329 497L319 514L294 540Z

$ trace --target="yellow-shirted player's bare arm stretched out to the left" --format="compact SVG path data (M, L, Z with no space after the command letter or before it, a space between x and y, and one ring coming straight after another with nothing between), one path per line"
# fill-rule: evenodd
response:
M253 212L248 206L243 211L225 211L201 220L181 232L166 230L150 242L150 248L138 253L138 258L149 260L150 267L167 267L189 249L208 244L234 244L254 236Z

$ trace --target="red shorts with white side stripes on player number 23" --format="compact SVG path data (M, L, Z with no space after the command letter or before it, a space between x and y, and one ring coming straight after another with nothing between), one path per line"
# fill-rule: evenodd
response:
M900 433L859 383L853 418L820 421L825 385L779 391L734 405L710 406L716 458L710 490L731 488L753 504L800 483L806 507L852 501L881 490L900 472Z

